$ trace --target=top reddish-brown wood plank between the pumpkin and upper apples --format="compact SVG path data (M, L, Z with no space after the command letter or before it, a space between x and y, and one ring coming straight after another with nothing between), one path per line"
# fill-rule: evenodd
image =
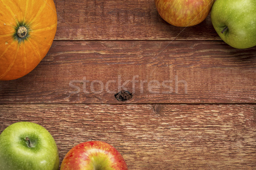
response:
M175 27L157 13L154 0L54 0L55 40L221 40L210 17Z

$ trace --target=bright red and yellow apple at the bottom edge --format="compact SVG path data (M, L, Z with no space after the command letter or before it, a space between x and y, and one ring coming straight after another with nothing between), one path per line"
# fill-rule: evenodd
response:
M122 155L110 144L84 142L64 157L61 170L128 170Z

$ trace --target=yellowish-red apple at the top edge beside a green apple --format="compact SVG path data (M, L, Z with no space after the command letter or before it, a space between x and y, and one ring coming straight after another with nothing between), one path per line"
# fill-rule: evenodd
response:
M201 23L215 0L155 0L160 16L173 26L187 27Z

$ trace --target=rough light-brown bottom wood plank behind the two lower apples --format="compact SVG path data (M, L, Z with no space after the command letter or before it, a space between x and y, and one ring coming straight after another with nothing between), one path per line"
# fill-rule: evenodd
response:
M256 169L256 105L0 105L0 132L43 125L60 162L76 144L116 147L129 170Z

